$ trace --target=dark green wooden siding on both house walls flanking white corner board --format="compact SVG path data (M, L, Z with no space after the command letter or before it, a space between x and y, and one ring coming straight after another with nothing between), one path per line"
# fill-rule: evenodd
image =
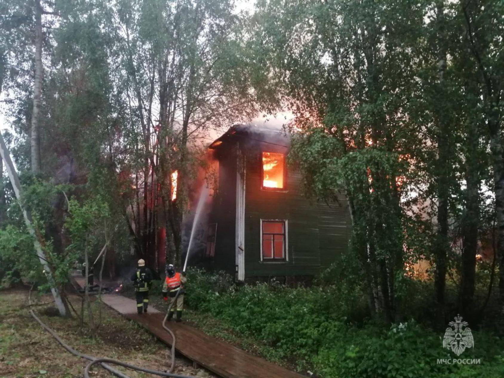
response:
M268 148L269 147L269 148ZM286 190L261 189L262 157L258 146L246 151L245 170L245 278L310 276L336 262L347 248L350 217L345 198L339 204L317 203L300 191L300 173L287 166ZM277 149L268 152L285 152ZM211 222L217 222L213 267L235 273L236 151L220 150L219 188ZM287 220L288 261L261 262L261 219Z

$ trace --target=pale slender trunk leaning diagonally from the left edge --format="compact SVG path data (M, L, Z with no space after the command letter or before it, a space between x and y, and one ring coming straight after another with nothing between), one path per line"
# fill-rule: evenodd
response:
M21 197L21 183L19 182L18 173L16 172L16 168L14 168L14 164L12 163L12 159L11 159L11 154L9 153L9 150L7 149L7 146L5 145L4 137L2 136L2 134L0 134L0 155L2 155L2 159L5 162L7 173L9 174L9 178L11 179L12 187L14 188L14 193L16 194L16 198L18 199L18 202L19 202L20 197ZM26 227L28 228L30 235L33 236L33 245L35 246L35 250L37 251L37 256L40 260L40 264L42 264L42 267L44 268L44 273L47 275L49 282L52 284L52 283L54 283L54 280L52 279L51 268L49 268L49 265L47 264L47 260L44 255L44 251L42 250L42 246L40 245L40 241L38 240L38 237L35 233L35 229L33 228L31 214L23 208L23 206L21 205L21 202L19 202L19 206L21 207L21 211L23 212L23 217L25 218ZM54 297L54 303L56 303L56 306L58 307L59 314L62 317L66 316L67 309L65 308L65 305L63 304L63 300L61 299L61 296L59 295L58 289L56 287L51 287L51 292L52 292L52 296Z

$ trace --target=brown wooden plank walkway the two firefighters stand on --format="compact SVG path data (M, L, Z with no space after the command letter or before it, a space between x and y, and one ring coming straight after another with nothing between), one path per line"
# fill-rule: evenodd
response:
M74 279L81 287L84 286L84 278L74 276ZM149 306L149 312L139 315L136 301L119 294L103 294L102 300L171 346L171 336L162 327L164 312ZM175 334L178 352L224 378L305 378L304 375L214 339L183 322L169 322L167 325Z

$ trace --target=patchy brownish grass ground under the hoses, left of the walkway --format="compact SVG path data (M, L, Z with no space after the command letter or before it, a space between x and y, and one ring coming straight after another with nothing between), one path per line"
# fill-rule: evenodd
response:
M87 361L67 352L36 323L25 307L27 297L26 288L0 291L0 377L82 377ZM48 295L32 295L32 301L37 303L50 300ZM71 300L76 308L80 308L78 297ZM96 320L98 305L94 303ZM166 369L167 346L106 306L102 307L102 321L95 336L87 326L81 327L78 319L55 316L56 311L52 304L37 306L35 311L42 322L80 352L106 356L156 370ZM126 371L123 368L118 369ZM176 359L175 372L202 378L212 376L203 369L193 369L191 362L183 358ZM150 376L131 370L128 370L128 375L132 378ZM93 376L109 377L110 373L102 368L95 368Z

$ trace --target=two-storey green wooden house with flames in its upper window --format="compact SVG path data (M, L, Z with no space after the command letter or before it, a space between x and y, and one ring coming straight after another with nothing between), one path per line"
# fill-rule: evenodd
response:
M231 127L209 147L218 187L206 231L205 258L240 281L309 277L347 248L346 199L316 203L301 193L301 175L286 164L290 136L265 124Z

